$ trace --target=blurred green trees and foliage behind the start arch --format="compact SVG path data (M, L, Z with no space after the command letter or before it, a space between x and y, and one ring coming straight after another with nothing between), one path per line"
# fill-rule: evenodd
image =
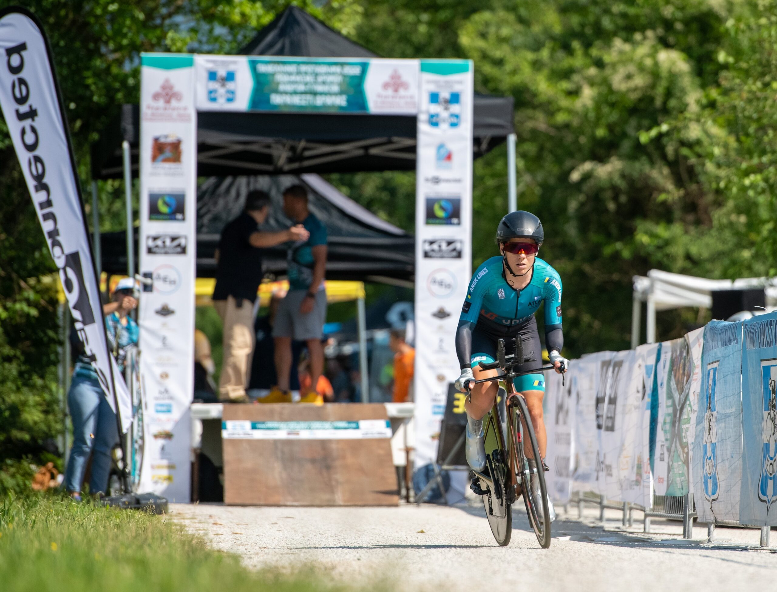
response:
M518 205L563 278L570 357L629 346L635 274L777 273L777 5L761 0L27 0L84 186L89 143L138 101L141 51L233 52L289 4L384 57L471 58L477 92L514 97ZM413 173L328 179L413 232ZM120 183L100 183L99 210L103 231L124 227ZM475 165L474 265L506 210L500 147ZM57 426L54 293L30 279L52 270L0 120L0 489ZM708 318L662 313L658 335Z

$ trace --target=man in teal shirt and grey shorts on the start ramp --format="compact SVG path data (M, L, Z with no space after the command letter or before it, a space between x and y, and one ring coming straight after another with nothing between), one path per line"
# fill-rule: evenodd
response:
M280 302L273 326L275 368L278 388L289 390L291 340L305 341L310 356L311 385L315 391L324 371L324 348L321 343L326 322L326 226L308 210L308 190L292 185L284 191L284 214L310 233L305 241L291 243L288 250L289 291ZM315 393L303 393L315 395Z

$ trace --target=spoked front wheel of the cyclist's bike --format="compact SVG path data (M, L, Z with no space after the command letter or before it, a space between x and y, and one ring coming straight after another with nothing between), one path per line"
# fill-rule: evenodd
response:
M531 446L533 457L541 459L539 454L539 445L535 436L534 426L531 425L531 416L529 416L526 401L521 395L514 397L516 402L512 409L513 430L510 431L510 444L515 447L517 456L517 466L515 476L523 487L524 504L526 505L526 514L528 514L529 524L537 535L537 541L542 548L550 546L550 510L548 507L548 490L545 487L545 472L542 470L542 461L538 461L535 474L538 480L538 492L535 493L531 487L531 468L526 461L524 454L524 444ZM526 430L521 423L521 416L526 422Z

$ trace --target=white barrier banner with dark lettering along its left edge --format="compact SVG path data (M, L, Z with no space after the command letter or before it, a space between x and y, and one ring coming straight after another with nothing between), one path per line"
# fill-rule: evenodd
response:
M630 409L632 399L635 399L636 381L641 376L634 372L634 350L615 353L612 357L605 382L605 409L601 423L601 468L598 471L600 491L608 500L622 501L623 486L621 463L630 461L632 451L624 451L623 426L626 413L636 411ZM625 471L623 472L625 473Z

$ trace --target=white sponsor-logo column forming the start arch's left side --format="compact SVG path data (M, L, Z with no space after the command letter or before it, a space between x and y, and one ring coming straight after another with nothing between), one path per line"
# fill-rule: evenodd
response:
M141 57L139 323L145 381L141 490L190 500L194 279L197 275L197 111L194 60L187 54Z

